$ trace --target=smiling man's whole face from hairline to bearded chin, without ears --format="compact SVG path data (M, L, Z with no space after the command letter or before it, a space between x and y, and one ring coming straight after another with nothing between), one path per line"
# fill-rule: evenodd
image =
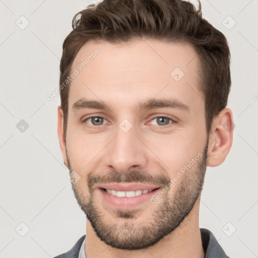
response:
M197 63L190 45L155 40L87 42L73 62L67 162L81 209L112 247L157 243L198 203L208 142ZM154 190L104 190L134 196L137 184Z

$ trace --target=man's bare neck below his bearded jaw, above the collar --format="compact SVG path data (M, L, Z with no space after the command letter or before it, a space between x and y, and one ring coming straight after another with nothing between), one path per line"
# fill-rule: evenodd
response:
M89 220L86 222L85 252L86 258L203 258L205 252L202 245L199 227L200 199L183 222L158 243L140 250L122 250L113 248L101 241L95 234Z

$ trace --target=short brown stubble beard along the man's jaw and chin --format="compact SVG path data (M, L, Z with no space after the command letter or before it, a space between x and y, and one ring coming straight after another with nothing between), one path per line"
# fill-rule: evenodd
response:
M144 213L142 210L111 210L101 204L96 198L96 191L93 190L92 182L96 181L94 178L88 180L89 190L86 187L80 189L77 184L72 184L74 195L94 232L107 245L124 250L144 249L158 243L173 232L191 212L201 196L206 173L207 151L208 142L197 168L191 168L176 182L179 184L176 185L172 197L169 196L168 190L156 204L150 202L149 206L155 205L156 210L148 216L147 220L140 221L141 214ZM69 158L68 168L70 172L73 171ZM141 171L134 170L128 173L128 178L126 176L127 174L121 175L116 172L113 182L139 182L139 180L134 181L134 178L139 179L139 176L141 178ZM86 190L87 196L85 196Z

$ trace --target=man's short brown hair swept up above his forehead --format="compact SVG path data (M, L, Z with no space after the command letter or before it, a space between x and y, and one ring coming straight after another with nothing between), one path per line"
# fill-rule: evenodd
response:
M227 105L231 87L230 51L226 37L202 18L201 3L196 9L181 0L103 0L77 13L73 30L63 42L60 61L59 90L66 136L69 84L61 84L71 73L79 49L89 40L111 43L136 38L167 42L187 42L201 60L205 96L206 128L209 135L213 118Z

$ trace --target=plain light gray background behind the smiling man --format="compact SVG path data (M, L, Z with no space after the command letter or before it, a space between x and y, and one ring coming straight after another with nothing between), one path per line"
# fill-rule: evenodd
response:
M2 258L53 257L85 234L85 215L57 139L59 96L52 101L46 96L58 87L61 46L72 18L91 3L0 1ZM258 257L257 6L257 0L202 1L205 18L226 35L231 48L228 107L235 130L225 162L207 169L200 227L210 229L227 255L236 258ZM21 16L29 21L23 30L16 25L26 25ZM23 133L16 127L21 119L29 124ZM26 233L22 222L29 227L25 236L20 235Z

